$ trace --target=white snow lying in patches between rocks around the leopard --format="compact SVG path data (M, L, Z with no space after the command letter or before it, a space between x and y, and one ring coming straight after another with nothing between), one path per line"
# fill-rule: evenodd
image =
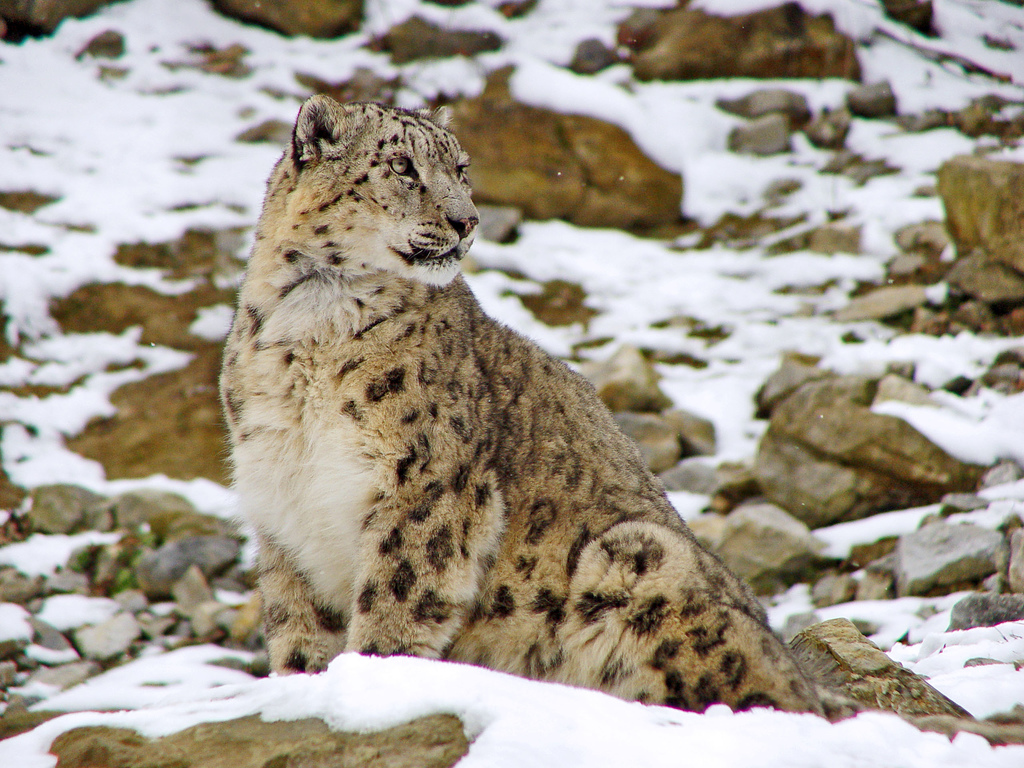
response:
M813 110L842 104L850 84L840 81L637 83L626 66L593 77L564 69L577 44L589 37L608 43L617 20L639 5L667 0L541 0L520 19L492 5L445 8L425 0L368 0L358 34L337 41L286 39L212 12L201 0L130 0L81 20L68 20L52 38L0 44L0 189L59 198L32 215L0 208L0 300L8 341L22 354L0 365L0 384L66 385L66 394L18 397L0 391L0 449L4 468L26 487L74 482L99 493L129 487L173 489L200 509L229 514L231 495L208 480L153 477L110 481L101 467L67 450L66 435L94 417L110 415L109 396L128 381L182 366L181 352L120 336L65 335L47 311L53 297L92 282L142 284L168 295L188 290L156 271L118 265L117 244L161 242L189 227L251 226L263 182L279 148L234 137L265 120L291 122L305 95L301 72L331 82L369 68L384 77L400 72L400 103L417 106L438 93L473 95L487 72L517 67L511 88L521 101L587 114L621 125L666 168L686 181L684 212L703 224L724 213L745 215L767 205L766 187L779 178L800 188L771 208L778 216L802 215L804 229L824 223L829 211L848 212L862 229L864 253L826 256L799 251L767 258L763 248L708 250L581 229L564 222L530 222L511 245L478 242L481 270L469 282L485 309L531 336L556 354L579 342L611 338L586 354L607 356L622 343L668 353L685 352L705 368L662 366L663 388L675 403L711 419L720 460L749 460L764 423L754 418L753 395L786 351L820 355L840 372L880 373L891 361L915 364L918 380L938 386L957 375L976 377L1002 349L1020 339L898 335L880 325L837 323L828 312L844 306L858 282L880 281L897 253L901 226L941 220L935 197L915 190L934 184L940 163L990 144L952 129L904 133L880 121L855 120L848 145L886 159L899 173L863 185L818 171L829 154L798 135L794 152L771 158L734 155L726 148L738 119L715 108L723 96L779 86L805 94ZM701 0L712 11L739 12L764 0ZM884 17L869 0L804 0L813 11L833 12L841 30L862 42L858 55L865 82L888 79L900 108L959 109L971 99L999 94L1024 103L1024 10L995 0L935 0L939 38L922 38ZM456 28L489 29L507 42L502 50L469 59L417 61L397 68L385 54L361 46L413 12ZM106 63L76 54L98 33L115 29L127 50ZM886 35L873 34L884 30ZM985 45L1001 40L1015 50ZM965 74L948 59L925 56L913 46L956 53L989 71L995 80ZM197 45L248 49L243 78L225 78L179 65L195 63ZM987 142L987 143L986 143ZM1024 147L997 157L1024 160ZM188 159L204 158L193 163ZM780 237L785 232L780 233ZM31 255L3 246L43 246ZM243 254L240 254L243 255ZM525 275L513 279L508 272ZM599 310L587 329L549 328L514 296L537 283L560 279L579 284ZM821 291L801 291L826 286ZM787 289L787 290L781 290ZM935 301L942 298L935 292ZM687 336L660 323L692 318L728 331L722 341ZM208 312L204 334L226 328L226 312ZM657 324L652 327L652 324ZM848 344L851 330L860 342ZM128 366L132 360L141 365ZM891 407L897 408L897 407ZM944 396L936 408L899 406L899 415L951 453L991 463L1024 462L1024 394L983 390L972 398ZM893 412L895 413L895 412ZM1017 511L1024 485L986 492ZM696 513L707 499L676 495L681 512ZM2 513L0 513L2 514ZM852 543L872 542L913 529L927 510L889 513L847 527L818 531L839 556ZM994 526L1005 519L972 519ZM83 535L95 539L101 535ZM0 550L0 562L46 572L86 540L43 537ZM85 599L85 598L83 598ZM984 717L1024 703L1024 623L945 633L955 596L864 601L819 611L821 617L862 618L879 628L873 639L894 658L928 675L933 684L975 715ZM0 605L0 639L25 632L24 611ZM60 605L52 610L57 613ZM794 588L772 608L777 626L810 609L806 588ZM101 604L68 604L63 610L102 614ZM54 623L59 623L55 618ZM899 644L903 640L908 644ZM895 644L895 645L894 645ZM0 743L0 765L50 766L50 740L62 729L87 723L130 725L158 734L204 720L251 713L266 718L315 715L339 728L369 729L412 717L460 715L475 738L465 766L1011 766L1024 765L1024 746L990 748L981 737L921 733L894 716L862 715L829 725L813 717L774 712L705 715L617 701L607 696L509 678L485 670L422 659L342 657L324 675L254 680L216 664L245 654L200 646L140 657L37 707L77 714L51 721ZM1001 664L964 667L975 657ZM36 692L39 695L39 692ZM128 710L118 714L80 712Z

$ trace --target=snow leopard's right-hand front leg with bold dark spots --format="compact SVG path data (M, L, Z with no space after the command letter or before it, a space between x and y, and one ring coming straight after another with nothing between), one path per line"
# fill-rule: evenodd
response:
M365 521L346 651L443 656L493 563L504 518L489 470L410 485Z

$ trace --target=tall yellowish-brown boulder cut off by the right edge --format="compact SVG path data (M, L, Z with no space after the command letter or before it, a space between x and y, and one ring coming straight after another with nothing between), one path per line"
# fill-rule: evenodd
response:
M1024 272L1024 163L961 155L939 167L938 190L962 257L980 248Z

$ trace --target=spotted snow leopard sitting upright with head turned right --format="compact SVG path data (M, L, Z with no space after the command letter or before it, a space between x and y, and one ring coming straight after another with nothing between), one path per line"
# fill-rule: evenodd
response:
M272 670L410 654L820 714L593 386L474 298L447 121L313 96L267 182L220 389Z

